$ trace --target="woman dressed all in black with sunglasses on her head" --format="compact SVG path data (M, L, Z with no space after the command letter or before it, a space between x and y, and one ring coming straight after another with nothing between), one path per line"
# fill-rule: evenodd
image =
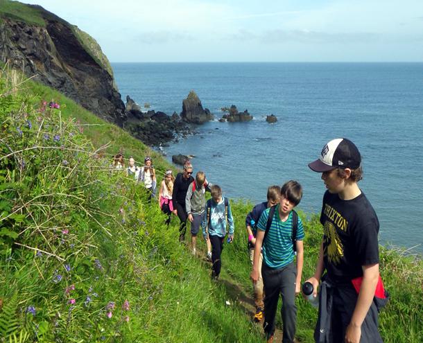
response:
M175 177L175 182L173 183L173 214L178 216L180 220L179 225L179 240L183 242L185 240L185 232L187 231L187 219L188 214L185 209L185 197L187 196L187 191L189 185L194 181L192 177L192 165L190 161L186 161L184 164L184 170L182 173L178 173Z

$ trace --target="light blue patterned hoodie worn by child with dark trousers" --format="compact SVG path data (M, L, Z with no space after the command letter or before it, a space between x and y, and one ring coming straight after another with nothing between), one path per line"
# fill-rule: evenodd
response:
M210 218L209 218L209 235L210 236L226 236L226 218L225 218L225 197L222 197L221 202L216 204L213 199L207 200L205 206L205 213L202 217L201 227L202 236L206 235L207 227L207 207L210 207ZM227 202L227 223L229 224L229 234L234 234L234 217L232 216L231 206L229 201Z

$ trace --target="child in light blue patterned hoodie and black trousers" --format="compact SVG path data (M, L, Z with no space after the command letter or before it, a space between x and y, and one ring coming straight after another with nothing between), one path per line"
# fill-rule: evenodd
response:
M212 279L217 280L221 274L225 236L228 233L228 243L232 243L234 239L234 217L229 200L222 195L221 187L214 184L210 188L212 199L207 200L201 226L203 237L212 244Z

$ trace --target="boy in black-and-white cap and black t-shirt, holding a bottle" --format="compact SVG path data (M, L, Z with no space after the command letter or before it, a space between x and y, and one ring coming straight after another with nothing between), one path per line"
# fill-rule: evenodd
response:
M377 328L379 306L387 293L379 276L379 220L359 188L361 155L352 141L334 139L309 164L322 173L327 191L320 222L324 228L313 284L320 278L316 342L382 342Z

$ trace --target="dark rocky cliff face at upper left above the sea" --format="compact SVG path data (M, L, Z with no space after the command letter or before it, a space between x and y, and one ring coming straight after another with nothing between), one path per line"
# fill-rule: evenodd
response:
M45 25L0 12L0 61L122 126L125 105L95 40L40 6L19 6L28 6Z

